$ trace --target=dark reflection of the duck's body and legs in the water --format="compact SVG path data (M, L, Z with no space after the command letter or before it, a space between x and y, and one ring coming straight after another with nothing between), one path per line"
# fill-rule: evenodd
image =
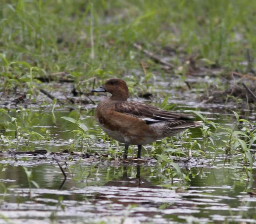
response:
M131 175L128 175L128 166L124 166L122 177L108 181L104 186L161 188L159 186L155 186L152 182L142 178L140 175L140 167L140 165L136 166L136 177L133 178L131 177Z

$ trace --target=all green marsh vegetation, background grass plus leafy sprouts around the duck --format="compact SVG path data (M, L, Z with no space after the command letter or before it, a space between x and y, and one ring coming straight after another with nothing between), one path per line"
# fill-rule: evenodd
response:
M58 72L71 74L74 86L82 92L90 92L106 78L124 78L128 81L131 96L137 95L138 91L154 92L157 78L165 81L177 75L184 80L190 59L197 66L223 68L219 75L224 77L234 70L250 72L253 64L248 59L248 52L251 58L256 57L253 51L256 49L255 11L256 1L251 0L58 0L54 4L51 0L1 0L0 98L26 92L30 101L38 101L41 87L49 91L63 88L38 79L55 74L52 77L58 82ZM145 49L171 62L174 67L170 73L135 49L133 43L141 43ZM216 82L221 84L218 77ZM139 87L134 89L134 86ZM165 98L159 106L173 109L175 104L170 104L166 95L162 96ZM61 105L56 100L43 101L41 105L50 105L50 119L57 123L59 117L55 116L55 110L62 108ZM37 132L30 129L34 121L29 109L20 108L15 116L10 116L4 109L0 112L5 118L1 126L12 132L10 136L8 133L1 136L1 142L9 144L15 136L14 144L18 146L21 138L27 144L32 138L39 141L49 138L46 129ZM88 139L95 141L95 136L109 140L99 129L87 132L87 126L79 120L79 106L73 114L70 112L62 118L61 127L68 122L73 124L75 143L70 149L79 149L77 145L81 149ZM243 152L244 166L249 164L250 168L250 147L255 141L255 132L250 135L237 131L240 121L236 119L233 129L224 128L223 134L228 140L223 142L222 149L226 149L226 154ZM218 124L207 124L215 125L218 130L222 128ZM202 133L200 144L192 141L186 132L178 146L172 142L166 144L167 140L163 140L161 146L154 145L156 149L151 152L158 155L159 170L167 167L163 176L169 177L172 183L176 177L184 181L188 175L180 172L170 159L171 155L186 157L190 156L191 149L197 149L192 155L205 156L205 151L212 150L216 156L221 150L215 146L212 129L204 126ZM182 150L175 150L180 146ZM114 158L120 155L113 147L108 152Z

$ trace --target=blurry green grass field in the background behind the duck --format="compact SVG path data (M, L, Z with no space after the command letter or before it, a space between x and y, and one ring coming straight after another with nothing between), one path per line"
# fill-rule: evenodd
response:
M29 86L37 75L60 71L78 80L94 75L131 75L138 80L145 75L138 61L149 60L132 47L135 42L169 57L175 67L193 56L246 72L248 67L241 65L245 50L256 56L255 10L256 3L249 0L2 0L1 85ZM175 55L164 55L165 46ZM159 68L150 64L148 74ZM136 78L132 69L140 76Z

